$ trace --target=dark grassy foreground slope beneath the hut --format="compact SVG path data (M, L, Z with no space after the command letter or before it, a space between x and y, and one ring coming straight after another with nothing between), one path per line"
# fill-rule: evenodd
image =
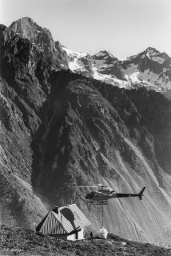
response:
M53 255L138 255L169 256L171 249L138 243L109 234L107 239L86 238L82 241L66 241L45 235L35 234L33 230L0 226L0 255L53 256Z

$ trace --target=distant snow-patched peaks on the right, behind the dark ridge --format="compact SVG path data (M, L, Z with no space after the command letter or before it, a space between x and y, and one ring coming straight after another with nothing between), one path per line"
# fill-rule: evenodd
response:
M157 91L171 89L171 58L153 47L125 60L114 57L109 50L83 54L63 49L73 72L129 89L142 86Z

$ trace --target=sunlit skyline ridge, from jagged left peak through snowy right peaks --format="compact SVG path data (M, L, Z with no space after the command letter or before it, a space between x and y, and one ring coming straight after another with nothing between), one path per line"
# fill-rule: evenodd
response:
M170 94L171 58L151 46L140 54L121 60L114 57L109 50L101 50L97 54L68 50L59 42L54 42L50 30L42 29L28 17L13 22L9 30L34 43L44 56L54 60L56 68L69 67L73 72L127 89L145 86L149 90ZM38 46L40 42L41 46ZM153 70L151 66L154 67Z

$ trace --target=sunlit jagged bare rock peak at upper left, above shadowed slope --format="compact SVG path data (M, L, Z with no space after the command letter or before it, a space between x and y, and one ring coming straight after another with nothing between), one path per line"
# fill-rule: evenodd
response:
M21 18L13 22L4 34L6 39L13 37L14 34L28 39L41 57L49 60L54 68L68 67L66 52L61 44L54 42L50 30L38 26L31 18Z

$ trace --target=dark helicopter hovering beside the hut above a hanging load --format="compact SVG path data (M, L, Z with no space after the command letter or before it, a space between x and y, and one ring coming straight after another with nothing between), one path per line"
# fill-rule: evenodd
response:
M106 205L109 199L113 198L132 198L138 197L142 200L143 192L145 187L138 194L125 194L116 193L114 190L109 190L109 186L97 184L97 186L79 186L79 187L100 187L97 191L92 191L85 195L85 199L88 199L90 203L95 205ZM105 189L108 188L108 189Z

